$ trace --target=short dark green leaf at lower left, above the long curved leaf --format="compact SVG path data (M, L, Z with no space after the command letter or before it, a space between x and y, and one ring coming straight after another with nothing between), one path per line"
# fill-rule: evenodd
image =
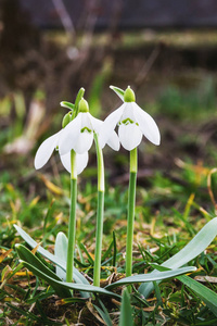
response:
M18 253L22 262L27 263L29 266L31 266L33 268L35 268L36 271L38 271L36 274L34 273L36 276L40 277L40 273L42 273L42 275L47 275L48 277L50 277L51 280L55 279L55 280L61 281L61 278L58 277L58 275L55 275L55 273L53 273L51 269L49 269L25 246L23 246L23 244L16 244L15 247L16 247L17 253ZM31 271L30 268L28 268L28 269ZM44 277L41 277L41 278L46 279ZM65 288L62 288L59 285L56 286L55 283L53 283L53 281L48 281L48 284L55 290L55 292L58 293L58 296L63 297L63 298L72 297L69 290L67 290Z

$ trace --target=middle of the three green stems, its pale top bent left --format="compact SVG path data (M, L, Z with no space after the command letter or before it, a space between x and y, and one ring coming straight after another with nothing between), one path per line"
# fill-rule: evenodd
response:
M98 156L98 213L97 213L93 285L99 287L100 275L101 275L101 252L102 252L103 214L104 214L104 162L103 162L102 149L99 146L97 134L94 134L94 141L95 141L97 156Z

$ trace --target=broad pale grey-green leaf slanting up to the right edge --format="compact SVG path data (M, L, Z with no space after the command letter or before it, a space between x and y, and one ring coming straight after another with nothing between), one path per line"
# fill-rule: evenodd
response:
M215 239L216 235L217 217L209 221L183 249L164 262L161 266L175 269L186 265L202 253ZM153 271L151 274L154 275L155 273L157 272ZM144 298L148 298L153 289L152 283L142 284L139 287L139 292L144 296Z

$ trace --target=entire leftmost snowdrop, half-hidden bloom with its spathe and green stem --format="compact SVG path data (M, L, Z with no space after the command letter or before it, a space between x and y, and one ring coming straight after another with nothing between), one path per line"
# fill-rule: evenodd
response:
M62 146L61 139L64 135L67 126L76 118L79 112L79 102L85 93L85 89L80 88L76 97L75 104L69 102L61 102L61 105L69 109L69 112L65 114L62 121L62 129L53 136L46 139L39 147L36 158L35 167L41 168L50 159L54 149L59 149ZM82 110L81 110L82 111ZM65 139L68 143L71 138ZM75 234L76 234L76 202L77 202L77 175L80 174L88 164L88 151L82 153L76 153L74 149L71 149L67 153L61 154L61 162L63 166L71 173L71 212L68 223L68 249L66 261L66 280L73 280L73 264L74 264L74 251L75 251Z

